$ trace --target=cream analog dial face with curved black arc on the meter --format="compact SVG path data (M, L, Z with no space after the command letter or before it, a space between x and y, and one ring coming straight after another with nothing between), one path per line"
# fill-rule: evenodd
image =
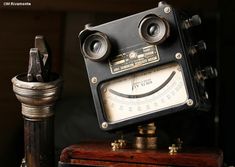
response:
M182 68L176 63L105 82L100 91L109 123L177 107L188 99Z

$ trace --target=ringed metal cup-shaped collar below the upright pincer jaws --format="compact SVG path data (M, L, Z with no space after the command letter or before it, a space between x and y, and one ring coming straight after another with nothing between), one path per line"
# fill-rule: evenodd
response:
M29 120L54 115L53 106L60 96L62 79L53 74L50 82L27 82L26 74L12 78L13 91L22 104L22 114Z

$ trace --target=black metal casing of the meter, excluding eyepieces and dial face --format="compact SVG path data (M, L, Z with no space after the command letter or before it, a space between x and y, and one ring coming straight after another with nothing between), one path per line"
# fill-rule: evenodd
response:
M165 20L170 28L169 36L160 44L150 44L140 36L139 26L141 21L146 16L152 15L156 15ZM196 77L197 71L200 69L199 64L195 64L196 59L190 58L192 55L190 55L191 46L189 45L192 42L190 41L191 39L187 32L187 23L185 23L184 19L183 15L177 13L168 4L161 4L156 8L132 16L94 27L87 27L80 33L81 48L83 48L87 36L93 32L106 34L110 42L110 52L101 61L94 61L85 56L83 52L101 129L109 131L152 121L159 116L183 110L207 108L208 100L204 94L204 87L201 86ZM146 51L145 48L149 49ZM153 50L154 52L152 52ZM132 51L135 51L137 55L144 54L149 57L142 57L142 62L140 62L139 58L131 60L129 56ZM126 61L127 59L128 61ZM115 64L117 61L120 61L119 64ZM109 122L107 120L100 92L104 83L171 63L176 63L182 68L188 91L187 102L179 106L172 106L161 111L140 115L127 120L118 122ZM106 123L105 126L104 123Z

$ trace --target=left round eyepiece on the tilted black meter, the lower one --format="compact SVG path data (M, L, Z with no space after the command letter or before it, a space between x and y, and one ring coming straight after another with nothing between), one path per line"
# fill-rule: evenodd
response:
M101 32L95 32L84 40L82 51L87 58L102 61L109 55L110 47L108 37Z

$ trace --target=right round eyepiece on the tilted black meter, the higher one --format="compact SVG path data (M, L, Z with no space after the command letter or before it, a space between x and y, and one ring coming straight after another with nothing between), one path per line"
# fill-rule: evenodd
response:
M149 44L160 44L170 34L168 22L156 15L146 16L139 25L140 37Z

